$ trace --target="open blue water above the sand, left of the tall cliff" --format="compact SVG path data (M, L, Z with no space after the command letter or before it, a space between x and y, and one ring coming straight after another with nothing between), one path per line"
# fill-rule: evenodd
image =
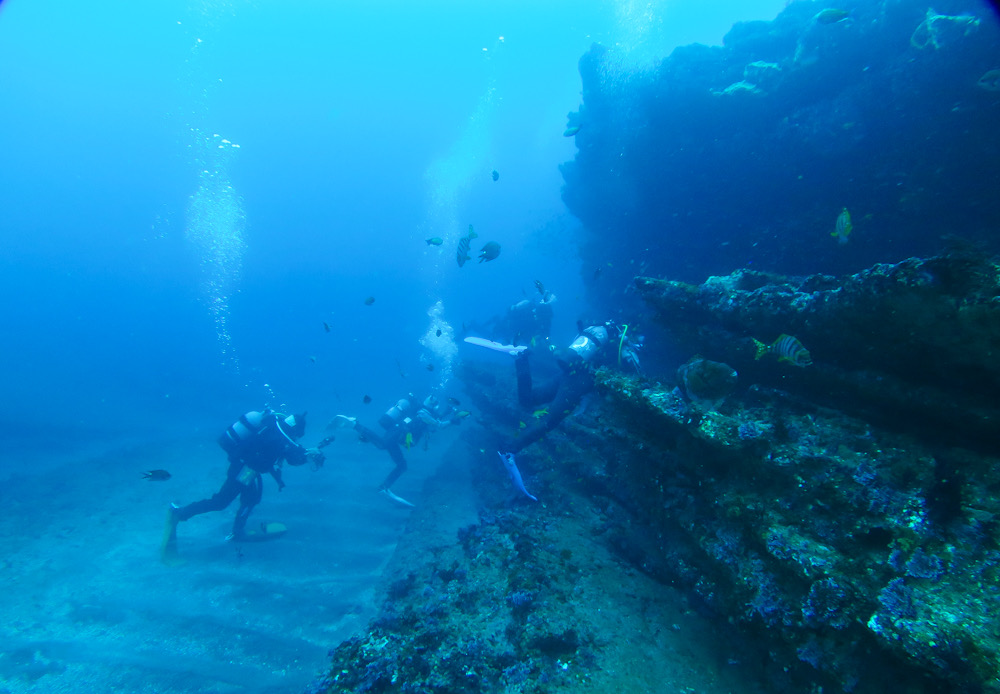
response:
M7 0L9 444L447 388L428 309L457 329L535 279L569 339L586 306L557 167L579 57L651 64L783 4ZM502 255L459 268L470 224Z

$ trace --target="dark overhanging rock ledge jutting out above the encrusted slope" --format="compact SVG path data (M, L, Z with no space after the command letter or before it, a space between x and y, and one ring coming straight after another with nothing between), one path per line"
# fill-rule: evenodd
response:
M635 286L682 354L926 439L1000 451L1000 267L980 254L844 278L740 270ZM809 350L808 367L761 353L782 334Z

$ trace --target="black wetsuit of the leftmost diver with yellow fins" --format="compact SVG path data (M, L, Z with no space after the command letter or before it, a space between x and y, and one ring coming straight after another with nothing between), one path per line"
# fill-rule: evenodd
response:
M244 415L245 421L246 415ZM278 428L277 417L266 414L261 427L253 436L233 444L226 434L219 443L229 453L229 470L222 487L208 499L195 501L177 509L174 514L178 521L186 521L192 516L209 511L221 511L240 497L240 508L233 522L233 535L239 537L246 527L250 512L261 499L264 485L261 475L269 474L278 483L278 490L284 487L278 463L285 460L289 465L304 465L307 461L306 449L289 439Z

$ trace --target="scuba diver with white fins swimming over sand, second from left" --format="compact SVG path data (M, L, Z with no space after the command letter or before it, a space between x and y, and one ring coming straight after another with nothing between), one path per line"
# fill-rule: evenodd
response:
M401 496L397 496L391 488L396 483L396 480L406 472L406 458L403 456L403 448L409 450L431 431L436 431L449 424L456 424L461 417L458 416L454 407L448 404L441 404L433 395L428 395L424 398L420 408L414 412L411 405L413 395L410 394L409 397L410 400L400 398L396 401L395 405L379 417L378 423L384 429L383 434L378 434L360 424L356 417L348 417L342 414L334 417L330 426L339 428L351 427L358 432L358 437L362 441L367 441L376 448L388 453L394 467L388 476L382 480L382 484L378 486L378 491L387 499L401 506L412 507L413 504Z

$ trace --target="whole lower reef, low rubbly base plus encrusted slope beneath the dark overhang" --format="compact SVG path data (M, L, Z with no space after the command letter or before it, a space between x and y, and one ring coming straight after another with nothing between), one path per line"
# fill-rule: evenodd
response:
M485 431L449 452L380 616L314 691L1000 691L995 458L762 385L712 410L596 378L519 457L540 502ZM726 667L679 678L707 644Z

